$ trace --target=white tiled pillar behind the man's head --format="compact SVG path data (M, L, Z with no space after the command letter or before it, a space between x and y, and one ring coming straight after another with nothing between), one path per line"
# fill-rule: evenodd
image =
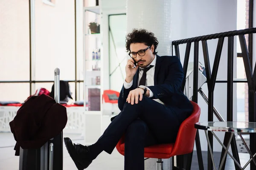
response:
M157 37L158 55L172 54L171 0L126 0L127 32L145 28Z

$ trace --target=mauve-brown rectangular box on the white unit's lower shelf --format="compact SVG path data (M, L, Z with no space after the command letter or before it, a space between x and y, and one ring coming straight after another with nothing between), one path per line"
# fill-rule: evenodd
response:
M88 88L88 110L100 111L100 89Z

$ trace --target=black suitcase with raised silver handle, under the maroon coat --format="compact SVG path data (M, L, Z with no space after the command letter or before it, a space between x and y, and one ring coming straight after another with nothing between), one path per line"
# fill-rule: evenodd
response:
M60 70L54 70L55 94L59 103ZM19 170L63 170L63 136L62 132L38 149L20 147Z

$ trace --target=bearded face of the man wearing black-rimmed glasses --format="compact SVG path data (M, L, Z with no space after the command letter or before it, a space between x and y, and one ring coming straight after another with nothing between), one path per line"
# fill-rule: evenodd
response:
M148 48L144 43L131 43L130 50L131 53L139 52L139 54L144 54L143 51ZM151 45L146 51L144 56L137 54L137 57L134 58L135 62L141 67L147 67L154 59L154 45Z

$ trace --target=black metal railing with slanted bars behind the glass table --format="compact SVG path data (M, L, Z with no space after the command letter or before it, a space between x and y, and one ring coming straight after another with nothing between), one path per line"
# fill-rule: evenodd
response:
M213 106L213 92L216 82L225 82L227 83L227 121L233 121L233 83L234 82L247 82L248 88L249 88L249 122L256 122L256 65L254 67L254 71L252 71L252 59L250 58L249 52L247 50L247 44L245 41L245 34L253 34L256 33L256 28L248 28L244 30L239 31L228 31L218 34L210 34L200 37L194 37L194 38L188 38L183 40L176 40L172 41L172 46L175 48L175 55L180 58L180 51L179 51L179 45L186 43L186 52L185 52L185 58L183 63L183 71L184 71L184 81L186 79L186 71L189 61L189 53L190 53L190 47L191 43L194 43L194 77L193 77L193 97L192 101L198 102L198 47L199 42L202 43L202 49L203 49L203 56L204 56L204 65L206 69L206 77L207 77L207 86L208 86L208 121L213 121L213 115L215 114L219 121L224 121L221 116L216 114L215 108ZM239 36L239 41L241 45L241 56L243 57L244 61L244 68L246 72L247 81L233 80L233 48L234 48L234 36ZM217 73L218 73L218 65L220 62L221 57L221 51L223 47L224 38L227 37L228 39L228 53L227 53L227 80L221 80L216 81ZM251 36L252 37L252 36ZM207 40L212 39L218 39L218 45L215 53L215 59L213 63L213 68L211 72L210 68L210 62L209 62L209 54L208 54L208 46L207 46ZM252 47L252 46L251 46ZM252 54L252 48L250 48L250 52ZM184 87L184 84L183 84ZM202 93L201 89L199 89L199 92ZM210 145L212 148L213 145L213 136L212 133L208 132ZM230 137L229 133L225 133L224 137L224 145L227 147L228 139ZM198 164L199 169L203 170L203 160L202 160L202 154L201 154L201 147L200 147L200 139L199 134L197 132L196 135L196 147L197 147L197 153L198 153ZM250 151L254 154L256 153L256 134L250 133ZM235 137L233 137L233 140L231 142L231 148L234 158L240 163L238 150L236 146L236 140ZM221 159L224 155L224 150L222 150L221 153ZM184 161L183 156L177 156L177 167L174 167L174 169L183 169L184 167ZM187 157L187 166L186 169L190 169L191 167L191 161L192 161L192 154L188 154ZM212 160L210 158L210 151L208 148L208 170L212 170ZM239 167L235 164L236 170L239 170ZM223 167L224 169L224 167ZM256 166L254 164L250 164L250 169L255 170Z

